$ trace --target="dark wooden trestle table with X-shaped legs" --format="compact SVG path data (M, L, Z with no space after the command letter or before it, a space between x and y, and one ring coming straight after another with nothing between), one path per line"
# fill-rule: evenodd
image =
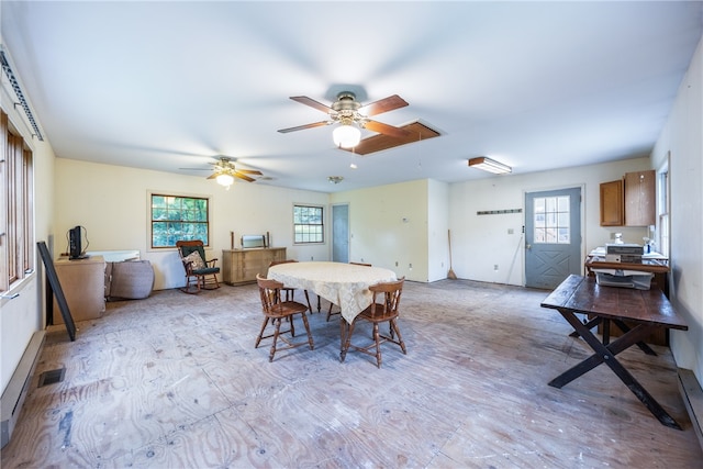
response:
M687 324L676 313L661 290L599 286L592 277L571 275L542 302L542 306L559 311L594 351L585 360L549 381L549 386L561 388L599 365L605 364L659 422L681 429L679 424L615 357L631 346L641 343L643 338L654 331L688 330ZM603 344L591 332L589 324L583 324L577 314L588 314L603 322L628 321L634 324L634 327L628 327L614 342Z

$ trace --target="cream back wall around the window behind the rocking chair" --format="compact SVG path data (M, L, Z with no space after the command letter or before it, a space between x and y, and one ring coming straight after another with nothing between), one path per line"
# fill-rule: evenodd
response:
M289 258L328 259L327 244L293 246L292 239L293 203L327 206L326 193L248 182L235 182L225 190L205 177L65 158L56 160L56 253L66 252L70 227L85 226L89 250L138 249L154 266L157 290L182 286L183 268L175 249L150 248L150 192L211 198L209 258L221 259L222 249L230 249L231 232L235 234L235 247L239 247L243 234L269 232L271 246L287 247Z

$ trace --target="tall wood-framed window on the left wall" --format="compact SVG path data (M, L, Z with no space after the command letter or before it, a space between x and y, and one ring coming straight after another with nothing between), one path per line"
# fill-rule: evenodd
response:
M34 269L33 157L0 111L0 291Z

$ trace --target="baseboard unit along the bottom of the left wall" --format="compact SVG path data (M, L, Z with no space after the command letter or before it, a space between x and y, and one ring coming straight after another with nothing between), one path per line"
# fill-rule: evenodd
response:
M34 376L36 364L42 355L42 348L44 348L45 336L46 332L44 331L37 331L32 335L30 344L24 349L24 354L22 354L20 364L12 373L8 387L2 392L0 398L0 418L2 420L0 448L4 448L10 443L12 431L22 412L22 404Z

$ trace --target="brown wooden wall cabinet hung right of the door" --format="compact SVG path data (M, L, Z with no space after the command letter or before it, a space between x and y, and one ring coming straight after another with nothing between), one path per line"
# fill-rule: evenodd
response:
M656 171L601 183L601 226L649 226L656 220Z

